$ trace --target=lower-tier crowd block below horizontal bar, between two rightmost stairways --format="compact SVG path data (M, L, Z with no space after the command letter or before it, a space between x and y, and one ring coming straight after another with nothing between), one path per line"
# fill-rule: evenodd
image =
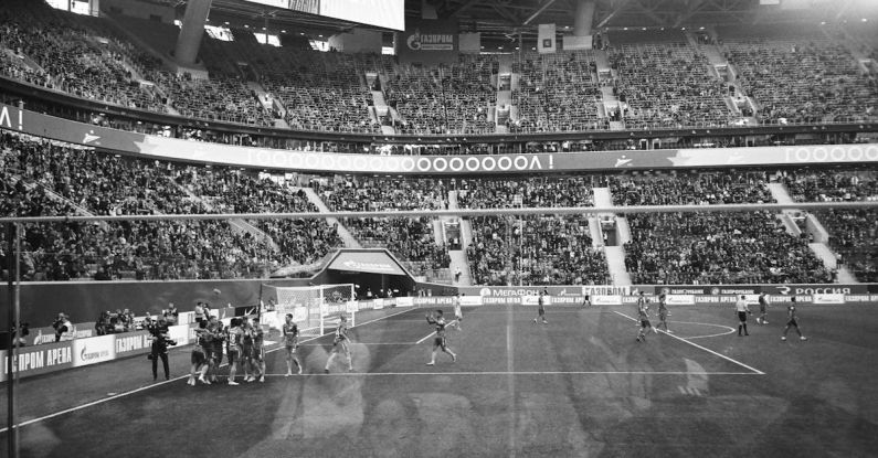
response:
M833 283L835 271L771 212L628 216L625 267L634 284Z

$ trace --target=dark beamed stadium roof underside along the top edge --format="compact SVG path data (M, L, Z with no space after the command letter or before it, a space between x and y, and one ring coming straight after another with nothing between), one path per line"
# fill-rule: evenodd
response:
M178 0L181 9L187 0ZM581 0L405 0L406 20L457 19L462 31L484 38L537 34L539 23L554 23L572 33ZM878 18L874 0L594 0L595 31L624 28L747 25L843 18ZM763 4L770 3L770 4ZM771 4L776 3L776 4ZM243 25L288 28L307 33L335 33L364 25L247 0L213 0L211 19ZM377 29L373 26L366 26ZM380 30L380 29L379 29Z

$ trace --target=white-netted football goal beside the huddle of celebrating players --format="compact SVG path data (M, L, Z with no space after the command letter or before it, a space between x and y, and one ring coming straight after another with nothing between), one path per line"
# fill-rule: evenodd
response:
M298 324L299 333L322 335L327 328L338 326L341 316L348 326L356 324L357 301L353 284L315 286L262 285L262 303L274 302L274 313L263 313L271 328L281 329L287 313Z

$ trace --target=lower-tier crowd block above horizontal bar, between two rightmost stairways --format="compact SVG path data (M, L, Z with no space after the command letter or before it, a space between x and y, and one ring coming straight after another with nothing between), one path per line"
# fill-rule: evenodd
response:
M614 205L774 202L764 171L607 175Z

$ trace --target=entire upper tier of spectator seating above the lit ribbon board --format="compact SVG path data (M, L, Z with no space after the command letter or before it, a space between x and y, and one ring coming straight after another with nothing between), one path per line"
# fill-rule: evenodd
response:
M499 75L498 55L415 66L393 56L320 53L299 42L262 45L251 31L233 30L231 42L205 33L200 58L209 78L201 79L169 74L154 56L163 50L134 44L127 33L166 33L136 21L7 0L0 74L127 108L306 131L564 132L605 130L613 121L631 130L738 125L750 115L762 124L878 119L878 68L863 71L849 51L866 46L863 54L875 55L875 43L853 43L828 26L719 29L709 42L681 31L612 32L601 50L515 53L512 75ZM718 76L708 55L724 56L738 79ZM610 72L602 74L604 58ZM605 88L618 102L605 100ZM501 90L510 90L511 106L497 106ZM378 92L387 111L374 106ZM743 97L754 113L730 102Z

